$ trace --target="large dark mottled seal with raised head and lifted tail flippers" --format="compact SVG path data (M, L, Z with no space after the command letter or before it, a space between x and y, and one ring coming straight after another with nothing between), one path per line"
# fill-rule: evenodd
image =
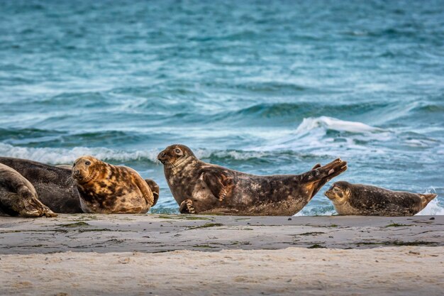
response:
M293 215L347 169L337 159L301 175L250 175L204 163L179 144L165 148L157 159L183 214Z

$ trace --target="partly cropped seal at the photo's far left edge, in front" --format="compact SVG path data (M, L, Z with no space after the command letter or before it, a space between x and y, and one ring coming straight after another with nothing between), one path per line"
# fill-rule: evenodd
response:
M57 216L40 200L33 185L13 168L0 163L0 212L11 216Z

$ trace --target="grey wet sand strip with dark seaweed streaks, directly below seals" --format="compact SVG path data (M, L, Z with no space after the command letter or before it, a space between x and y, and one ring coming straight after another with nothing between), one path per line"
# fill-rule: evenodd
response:
M0 217L0 253L444 246L444 216L59 214ZM91 237L94 238L91 241Z

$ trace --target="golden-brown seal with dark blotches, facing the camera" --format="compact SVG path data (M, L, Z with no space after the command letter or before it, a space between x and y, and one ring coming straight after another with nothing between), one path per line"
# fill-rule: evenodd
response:
M156 189L132 168L110 165L89 155L77 158L72 177L86 213L146 213L159 196L158 187L153 194Z

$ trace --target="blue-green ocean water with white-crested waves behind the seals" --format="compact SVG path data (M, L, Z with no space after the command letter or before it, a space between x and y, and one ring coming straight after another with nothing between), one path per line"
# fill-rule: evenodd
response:
M444 1L0 1L0 155L129 165L177 212L172 143L260 175L340 157L444 214Z

